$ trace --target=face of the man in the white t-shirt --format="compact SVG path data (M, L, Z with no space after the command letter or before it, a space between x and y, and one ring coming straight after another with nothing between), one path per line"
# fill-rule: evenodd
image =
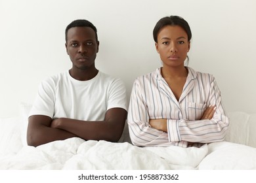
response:
M68 30L66 52L70 56L74 69L95 67L99 42L91 27L72 27Z

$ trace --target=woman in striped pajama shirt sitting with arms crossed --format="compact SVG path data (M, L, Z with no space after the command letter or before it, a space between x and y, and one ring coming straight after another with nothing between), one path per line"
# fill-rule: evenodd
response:
M184 66L192 37L186 20L161 18L153 31L163 67L139 76L128 112L137 146L199 146L223 141L228 117L213 75Z

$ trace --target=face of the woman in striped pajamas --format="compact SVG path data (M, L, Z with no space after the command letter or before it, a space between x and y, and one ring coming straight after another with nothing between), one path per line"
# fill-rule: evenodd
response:
M179 25L166 25L158 33L156 50L163 61L163 67L184 67L184 61L190 50L186 31Z

